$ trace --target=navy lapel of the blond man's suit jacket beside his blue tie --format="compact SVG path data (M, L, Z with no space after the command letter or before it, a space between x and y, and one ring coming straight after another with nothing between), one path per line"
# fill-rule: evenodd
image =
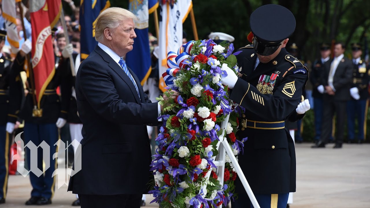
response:
M107 53L105 53L104 50L102 50L99 46L96 46L95 47L95 52L100 54L100 56L104 59L105 62L108 63L108 66L111 67L121 78L123 81L125 81L125 83L128 85L128 87L130 88L132 94L134 95L135 97L135 100L138 102L138 103L141 103L140 101L140 98L139 98L139 95L136 91L136 88L135 88L135 85L134 83L132 83L132 81L130 80L130 78L127 76L127 74L123 71L123 69L120 67L120 65L118 65L112 57L110 57ZM132 72L130 71L131 75L132 75ZM140 84L140 83L139 83Z

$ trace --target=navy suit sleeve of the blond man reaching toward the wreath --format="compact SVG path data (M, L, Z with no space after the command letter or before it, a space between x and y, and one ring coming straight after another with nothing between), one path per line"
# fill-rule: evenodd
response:
M82 97L78 100L86 100L92 109L101 117L110 122L132 125L157 125L158 103L129 103L120 97L116 90L111 75L96 62L82 63L78 70L76 87L81 91ZM123 82L123 80L122 80ZM138 85L141 87L141 85ZM127 89L129 93L131 91ZM131 96L131 95L128 95Z

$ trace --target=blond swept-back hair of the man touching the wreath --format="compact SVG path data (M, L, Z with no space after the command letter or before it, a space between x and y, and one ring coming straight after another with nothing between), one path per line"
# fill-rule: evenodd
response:
M134 13L127 9L123 9L120 7L110 7L108 9L105 9L102 13L99 14L98 18L96 19L95 40L98 42L103 40L105 28L117 28L121 21L128 19L132 19L134 21L139 20L139 18Z

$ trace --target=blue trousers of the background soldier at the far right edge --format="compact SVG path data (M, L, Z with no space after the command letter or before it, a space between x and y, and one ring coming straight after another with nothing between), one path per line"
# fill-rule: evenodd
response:
M357 118L358 130L357 139L363 141L365 138L366 116L368 100L349 100L347 102L347 128L348 140L355 138L355 120Z

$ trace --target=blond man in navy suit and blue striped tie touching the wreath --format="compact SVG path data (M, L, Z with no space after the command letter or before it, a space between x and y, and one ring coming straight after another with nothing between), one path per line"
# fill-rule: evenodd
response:
M104 10L95 26L98 46L77 72L83 139L82 150L76 153L81 164L74 167L81 165L81 170L71 177L68 190L78 194L82 208L139 208L149 187L146 125L158 124L162 106L151 103L121 58L132 50L134 20L138 18L129 10Z

